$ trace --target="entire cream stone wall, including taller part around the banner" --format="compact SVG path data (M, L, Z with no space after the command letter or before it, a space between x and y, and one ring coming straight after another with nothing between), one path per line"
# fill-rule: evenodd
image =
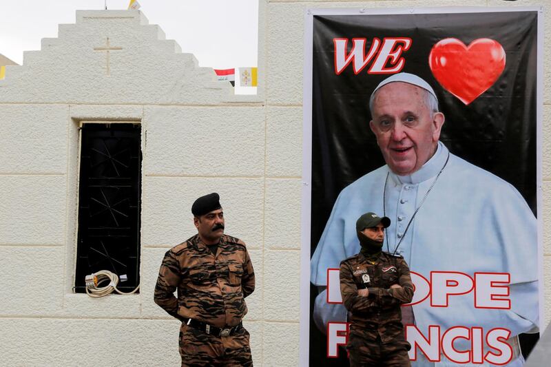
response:
M178 322L153 303L154 283L165 251L195 232L191 203L211 191L220 193L227 233L247 242L257 274L245 319L255 364L298 366L304 11L456 5L260 0L258 96L234 96L138 11L77 12L58 38L26 52L23 66L8 66L0 81L0 366L178 366ZM544 19L551 39L551 17ZM107 36L122 48L110 52L109 74L105 52L93 50ZM546 223L551 49L544 46ZM83 120L142 125L138 295L72 293ZM550 225L543 262L551 301ZM549 307L545 315L547 324Z

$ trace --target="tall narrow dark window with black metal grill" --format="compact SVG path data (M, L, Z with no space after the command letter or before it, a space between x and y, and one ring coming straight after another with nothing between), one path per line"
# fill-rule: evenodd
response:
M79 229L75 290L85 276L108 270L117 289L140 283L141 125L84 123L81 127Z

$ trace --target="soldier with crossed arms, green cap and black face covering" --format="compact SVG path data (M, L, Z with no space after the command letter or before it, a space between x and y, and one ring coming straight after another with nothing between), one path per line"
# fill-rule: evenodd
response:
M404 258L382 252L389 225L374 213L361 216L356 231L362 250L340 263L351 366L411 366L400 305L411 302L413 283Z

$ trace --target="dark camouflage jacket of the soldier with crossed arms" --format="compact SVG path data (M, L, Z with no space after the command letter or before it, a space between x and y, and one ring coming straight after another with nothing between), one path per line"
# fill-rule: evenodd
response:
M402 288L391 289L393 284ZM368 296L358 295L358 289L368 289ZM340 293L352 323L377 327L401 322L400 305L413 298L408 264L402 256L390 253L382 252L375 262L357 253L340 263Z

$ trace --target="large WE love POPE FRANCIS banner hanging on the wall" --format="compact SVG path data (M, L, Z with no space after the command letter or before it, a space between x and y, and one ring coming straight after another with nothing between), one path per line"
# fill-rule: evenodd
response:
M340 262L360 252L355 223L370 211L391 219L383 250L410 267L413 366L522 366L541 300L540 16L307 12L302 366L348 364ZM370 101L404 72L437 107L404 82Z

